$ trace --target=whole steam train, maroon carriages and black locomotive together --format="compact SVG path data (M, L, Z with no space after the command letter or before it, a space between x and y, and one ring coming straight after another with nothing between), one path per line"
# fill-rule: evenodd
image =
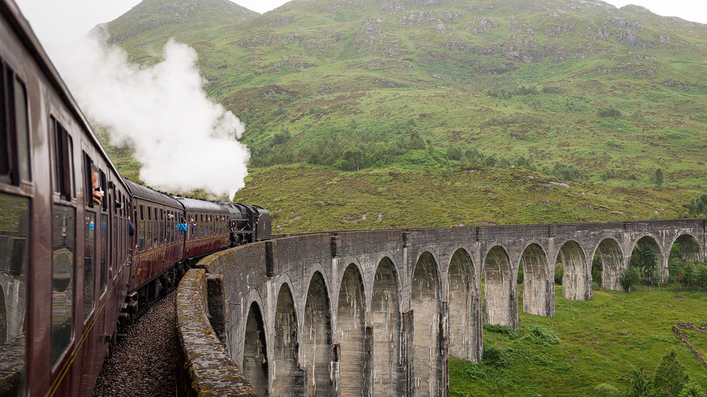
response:
M141 304L202 256L270 230L263 208L122 179L0 0L0 396L89 396Z

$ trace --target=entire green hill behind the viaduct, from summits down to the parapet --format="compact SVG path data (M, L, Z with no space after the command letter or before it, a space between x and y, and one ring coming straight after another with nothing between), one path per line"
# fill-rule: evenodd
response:
M262 184L252 179L239 199L305 211L297 196L310 182L298 175L375 185L372 175L394 170L409 177L378 188L401 191L409 207L433 207L429 197L457 184L524 207L476 196L473 209L433 220L393 208L392 224L532 223L674 217L707 183L707 25L579 0L296 0L262 15L226 0L176 4L144 1L107 25L110 40L142 63L169 37L197 50L209 95L247 124ZM281 165L292 183L276 179ZM659 167L665 187L655 189ZM508 170L498 175L513 185L460 177L477 169ZM525 208L512 186L529 176L578 184L562 193L576 201L598 189L585 208L607 211ZM361 213L385 211L361 190L346 194L366 203ZM319 197L338 199L330 189ZM284 230L363 227L343 220L358 210L311 209L310 223Z

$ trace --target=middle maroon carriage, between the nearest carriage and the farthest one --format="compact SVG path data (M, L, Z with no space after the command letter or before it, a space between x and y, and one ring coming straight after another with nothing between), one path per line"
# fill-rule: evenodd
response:
M176 226L184 219L184 207L172 196L125 183L133 196L136 226L129 291L134 300L148 302L177 279L180 269L174 265L182 261L184 233Z

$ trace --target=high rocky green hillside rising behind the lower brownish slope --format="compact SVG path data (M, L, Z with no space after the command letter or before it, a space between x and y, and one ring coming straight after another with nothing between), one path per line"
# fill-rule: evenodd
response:
M209 93L247 122L256 166L346 169L361 150L353 169L375 168L455 145L608 170L610 184L647 185L656 167L670 184L705 182L705 25L574 0L291 1L197 19L188 35L124 38L134 17L108 26L135 60L156 60L170 35L194 46Z

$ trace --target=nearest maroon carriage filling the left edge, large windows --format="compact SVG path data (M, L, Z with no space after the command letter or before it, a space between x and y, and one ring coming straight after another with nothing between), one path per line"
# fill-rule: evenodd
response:
M2 393L90 395L127 294L129 192L11 0L0 71Z

